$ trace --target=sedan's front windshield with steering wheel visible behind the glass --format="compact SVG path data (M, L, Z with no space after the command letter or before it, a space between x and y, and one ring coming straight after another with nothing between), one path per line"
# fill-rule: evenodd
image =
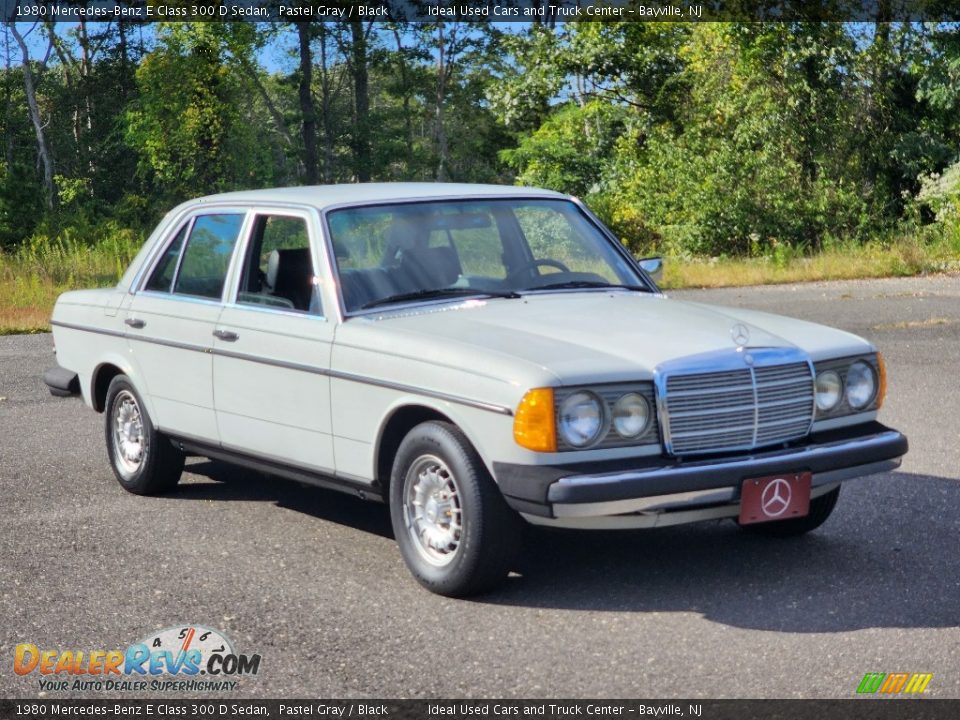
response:
M328 223L347 312L471 294L649 289L567 200L345 208Z

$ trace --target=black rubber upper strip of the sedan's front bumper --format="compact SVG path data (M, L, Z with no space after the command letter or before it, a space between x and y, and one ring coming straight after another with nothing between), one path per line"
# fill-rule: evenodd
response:
M549 516L554 503L610 502L709 490L782 472L810 471L816 475L894 460L907 450L903 434L872 422L817 433L790 448L749 455L691 462L658 456L567 466L494 463L494 474L507 502L517 510L530 512L531 505L539 505L541 511L534 514Z

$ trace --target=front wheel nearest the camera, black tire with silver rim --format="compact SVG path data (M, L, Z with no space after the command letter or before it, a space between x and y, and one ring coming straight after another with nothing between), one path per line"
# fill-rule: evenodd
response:
M434 491L425 495L424 488ZM418 517L413 500L425 496ZM441 512L444 507L449 510ZM459 532L453 529L457 515ZM390 517L410 572L439 595L465 597L501 584L520 546L520 517L463 433L446 422L422 423L400 443L390 477ZM424 538L449 543L437 548Z

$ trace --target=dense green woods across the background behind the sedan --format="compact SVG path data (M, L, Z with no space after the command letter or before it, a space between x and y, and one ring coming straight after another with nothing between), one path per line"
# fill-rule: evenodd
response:
M902 23L2 28L0 249L304 183L520 183L632 249L960 248L960 33Z

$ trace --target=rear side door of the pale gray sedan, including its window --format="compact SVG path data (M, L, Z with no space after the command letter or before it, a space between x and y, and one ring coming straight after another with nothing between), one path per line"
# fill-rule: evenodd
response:
M213 331L246 212L188 217L168 241L127 311L127 337L157 426L217 442Z

